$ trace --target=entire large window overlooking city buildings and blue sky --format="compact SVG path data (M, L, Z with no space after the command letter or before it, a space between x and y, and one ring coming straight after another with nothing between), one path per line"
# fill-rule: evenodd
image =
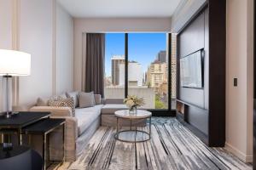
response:
M176 62L169 68L167 37L166 33L107 33L105 98L134 94L145 99L146 109L171 109L169 94L176 89L170 87L175 80L171 81L169 69L176 71Z

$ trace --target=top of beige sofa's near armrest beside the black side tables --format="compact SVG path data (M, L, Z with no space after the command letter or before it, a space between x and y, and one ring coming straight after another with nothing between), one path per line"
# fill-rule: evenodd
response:
M30 111L49 111L50 116L72 116L70 107L34 106Z

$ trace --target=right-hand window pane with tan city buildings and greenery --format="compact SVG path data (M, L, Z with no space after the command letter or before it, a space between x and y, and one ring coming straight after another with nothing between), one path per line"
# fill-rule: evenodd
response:
M128 34L128 94L143 97L146 109L168 109L165 33Z

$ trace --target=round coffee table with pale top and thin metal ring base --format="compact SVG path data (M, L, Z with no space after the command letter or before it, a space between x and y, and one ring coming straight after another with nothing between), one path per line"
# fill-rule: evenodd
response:
M117 119L117 122L116 122L117 132L114 135L115 139L122 142L129 142L129 143L145 142L151 139L151 116L152 116L151 112L137 110L137 113L129 113L128 110L121 110L121 111L115 111L114 116L116 116L116 119ZM130 120L130 130L119 131L119 119ZM148 132L144 130L138 130L137 126L135 126L135 129L131 128L132 121L143 120L143 119L146 119L146 120L149 119ZM147 126L147 122L146 122L146 126Z

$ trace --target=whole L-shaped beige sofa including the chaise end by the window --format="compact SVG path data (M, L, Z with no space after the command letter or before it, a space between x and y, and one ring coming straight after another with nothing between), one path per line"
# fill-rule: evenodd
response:
M127 109L123 99L101 99L100 105L87 108L75 108L75 116L72 115L70 107L33 106L30 111L49 111L51 118L65 118L65 159L75 161L79 156L97 128L102 126L116 126L114 111ZM145 121L133 122L133 125L145 126ZM123 120L122 126L130 125ZM50 139L50 159L59 161L62 156L60 137L56 133Z

